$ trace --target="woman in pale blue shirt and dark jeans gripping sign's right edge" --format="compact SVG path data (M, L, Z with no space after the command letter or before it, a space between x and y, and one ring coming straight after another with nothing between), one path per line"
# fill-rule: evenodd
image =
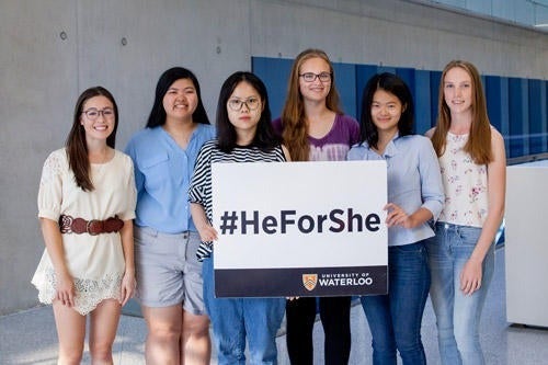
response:
M413 101L396 75L374 76L362 101L361 139L349 160L386 160L388 178L387 295L363 296L362 306L373 335L374 364L426 364L421 322L430 288L424 240L434 236L427 225L436 219L443 184L430 140L412 135Z

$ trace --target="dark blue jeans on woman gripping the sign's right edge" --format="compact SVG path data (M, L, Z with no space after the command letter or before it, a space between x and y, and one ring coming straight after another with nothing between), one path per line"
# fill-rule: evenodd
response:
M426 364L422 315L430 288L424 241L388 248L388 294L361 297L373 337L373 364Z

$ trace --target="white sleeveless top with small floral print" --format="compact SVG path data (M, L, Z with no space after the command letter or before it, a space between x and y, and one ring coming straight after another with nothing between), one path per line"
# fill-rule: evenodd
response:
M439 221L482 227L488 213L487 166L476 164L464 147L468 135L447 133L445 152L439 157L445 206Z

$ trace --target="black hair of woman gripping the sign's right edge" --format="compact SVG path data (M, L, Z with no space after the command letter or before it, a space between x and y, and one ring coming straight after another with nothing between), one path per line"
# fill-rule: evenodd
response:
M413 96L406 82L390 72L373 76L364 88L362 98L362 116L359 117L359 141L367 141L370 147L377 148L378 130L372 118L373 96L377 90L384 90L396 95L403 107L398 122L400 137L413 134L414 106Z

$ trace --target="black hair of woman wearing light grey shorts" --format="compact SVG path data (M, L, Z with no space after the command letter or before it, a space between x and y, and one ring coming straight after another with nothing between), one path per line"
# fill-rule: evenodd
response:
M192 114L192 122L209 124L209 118L207 117L204 104L202 103L202 93L199 91L199 83L196 76L194 76L191 70L183 67L173 67L164 71L158 80L156 85L155 104L152 105L152 110L150 111L150 115L147 121L147 128L153 128L165 124L167 114L163 109L163 96L173 82L180 79L191 80L196 89L196 94L198 95L198 104Z

